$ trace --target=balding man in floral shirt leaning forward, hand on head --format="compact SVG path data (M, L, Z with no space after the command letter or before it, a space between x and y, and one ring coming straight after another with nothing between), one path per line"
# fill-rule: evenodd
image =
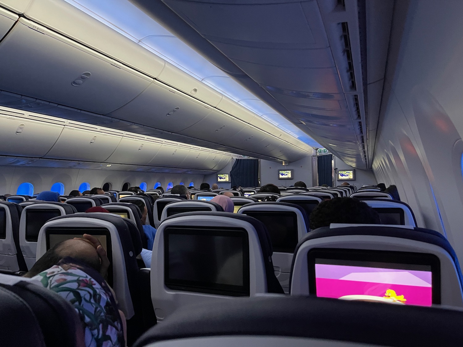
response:
M66 240L50 248L25 277L37 280L74 306L84 328L85 346L124 347L125 316L101 276L108 266L100 242L85 234L83 239Z

